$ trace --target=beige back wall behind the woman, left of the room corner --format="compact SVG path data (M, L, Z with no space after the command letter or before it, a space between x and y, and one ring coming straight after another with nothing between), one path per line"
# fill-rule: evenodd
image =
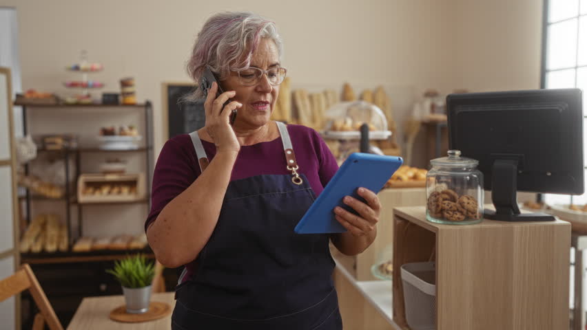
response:
M285 41L294 87L356 89L383 84L420 94L451 88L451 1L33 1L0 0L17 8L23 89L68 92L65 65L79 51L105 65L95 74L104 91L136 77L138 99L155 106L156 154L163 144L161 82L187 81L184 65L210 14L251 10L271 17ZM400 87L397 89L396 87ZM397 92L395 94L398 94ZM397 96L406 98L406 96ZM400 101L401 117L413 95Z

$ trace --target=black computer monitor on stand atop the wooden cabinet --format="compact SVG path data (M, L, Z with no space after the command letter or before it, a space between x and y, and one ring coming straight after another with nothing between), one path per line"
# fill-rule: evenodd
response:
M451 94L446 98L449 147L477 159L495 211L486 219L544 221L520 214L516 192L584 192L580 89Z

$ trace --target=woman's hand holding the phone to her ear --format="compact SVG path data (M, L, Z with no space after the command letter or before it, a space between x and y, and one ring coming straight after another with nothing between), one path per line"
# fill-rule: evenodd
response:
M204 102L206 113L206 131L212 141L216 144L217 152L235 151L238 153L240 144L236 139L236 134L230 125L230 113L233 109L243 107L243 104L237 101L229 102L223 109L223 104L230 98L234 98L236 91L225 91L216 98L218 83L212 83L208 91L208 96Z

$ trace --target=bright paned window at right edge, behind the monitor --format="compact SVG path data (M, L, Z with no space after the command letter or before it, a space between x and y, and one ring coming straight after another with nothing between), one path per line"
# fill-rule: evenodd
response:
M583 89L583 121L587 127L587 0L544 0L543 34L542 87ZM587 155L587 129L583 141ZM544 200L581 205L587 203L587 194L546 194Z

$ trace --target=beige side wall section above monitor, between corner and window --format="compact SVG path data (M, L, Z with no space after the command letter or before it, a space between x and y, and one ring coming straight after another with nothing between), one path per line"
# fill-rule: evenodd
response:
M540 87L543 0L455 0L454 85Z

